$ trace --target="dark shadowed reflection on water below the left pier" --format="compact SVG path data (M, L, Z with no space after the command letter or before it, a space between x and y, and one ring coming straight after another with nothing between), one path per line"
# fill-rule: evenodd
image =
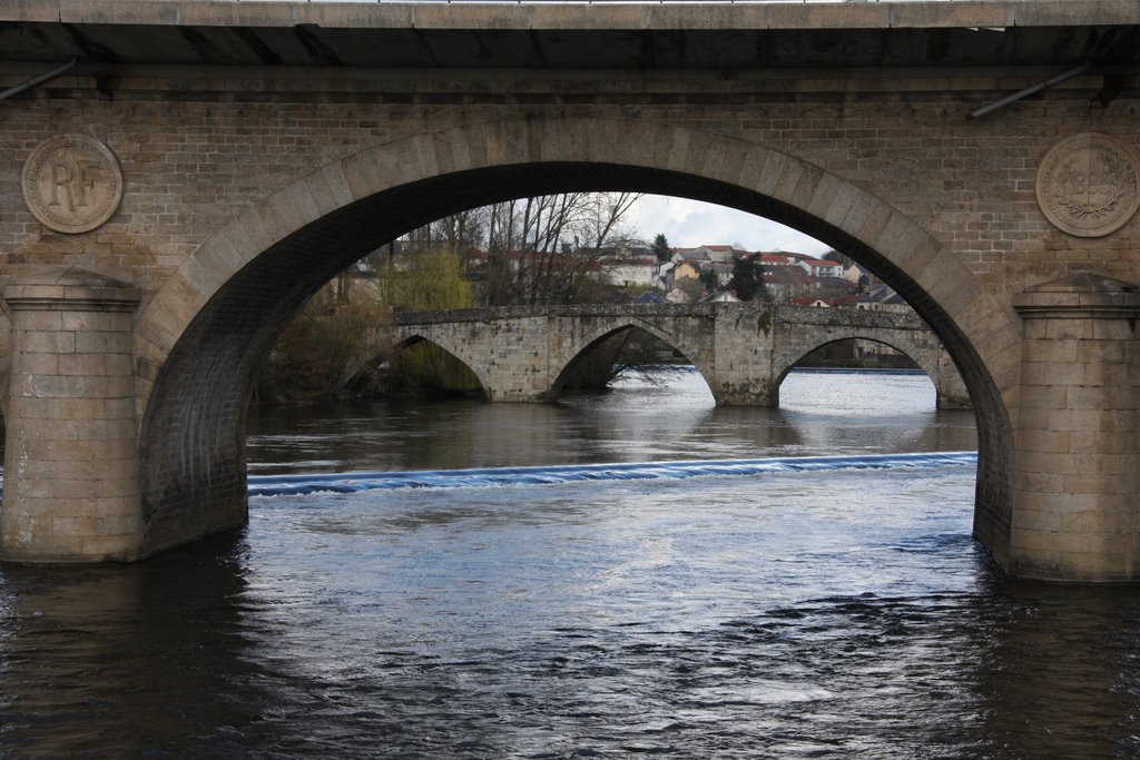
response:
M147 757L264 704L235 536L141 565L0 570L0 757ZM205 757L203 754L202 757Z

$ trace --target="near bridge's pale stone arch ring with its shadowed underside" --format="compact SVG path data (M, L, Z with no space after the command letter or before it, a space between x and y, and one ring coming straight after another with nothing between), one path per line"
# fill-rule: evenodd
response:
M464 209L556 191L635 190L766 216L869 267L934 327L978 420L975 534L1009 537L1016 314L922 227L792 155L682 126L520 116L347 156L223 224L139 314L141 555L244 524L253 377L308 295L383 243ZM1012 393L1013 391L1009 391Z

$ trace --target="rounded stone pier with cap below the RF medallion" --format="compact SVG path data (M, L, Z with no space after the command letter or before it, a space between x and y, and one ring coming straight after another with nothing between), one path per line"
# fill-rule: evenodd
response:
M82 267L3 288L13 320L0 558L132 559L141 536L131 314L139 292Z

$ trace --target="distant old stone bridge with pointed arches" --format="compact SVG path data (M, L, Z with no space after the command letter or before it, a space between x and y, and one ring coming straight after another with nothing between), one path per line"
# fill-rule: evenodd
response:
M969 395L942 343L914 314L742 303L506 307L397 314L399 345L430 341L467 365L489 401L556 399L573 366L608 338L642 329L683 353L717 406L775 407L805 356L864 338L902 351L937 391L939 408Z

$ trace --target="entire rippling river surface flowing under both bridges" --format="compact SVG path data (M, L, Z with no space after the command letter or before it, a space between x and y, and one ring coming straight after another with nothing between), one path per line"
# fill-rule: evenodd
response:
M249 528L0 567L0 757L1140 753L1140 596L991 564L970 412L782 397L255 412Z

